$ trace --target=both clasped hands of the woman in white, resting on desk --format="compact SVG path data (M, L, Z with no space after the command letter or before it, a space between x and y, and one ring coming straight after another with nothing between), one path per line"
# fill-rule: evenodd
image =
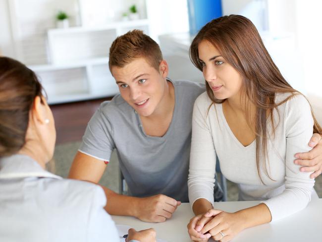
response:
M243 222L237 213L210 209L193 217L187 228L192 241L207 242L212 237L215 241L227 242L243 230Z

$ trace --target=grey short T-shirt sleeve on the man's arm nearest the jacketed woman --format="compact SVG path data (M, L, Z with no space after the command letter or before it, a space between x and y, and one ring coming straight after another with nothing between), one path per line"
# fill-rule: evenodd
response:
M95 112L88 122L79 151L96 159L109 161L115 148L113 125L102 112Z

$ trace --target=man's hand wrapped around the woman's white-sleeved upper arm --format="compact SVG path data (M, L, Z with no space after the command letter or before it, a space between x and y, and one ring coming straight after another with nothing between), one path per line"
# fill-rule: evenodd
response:
M310 139L309 146L312 150L305 153L297 153L294 161L295 164L303 166L300 168L301 172L314 172L310 178L316 178L322 173L322 139L321 135L314 133Z

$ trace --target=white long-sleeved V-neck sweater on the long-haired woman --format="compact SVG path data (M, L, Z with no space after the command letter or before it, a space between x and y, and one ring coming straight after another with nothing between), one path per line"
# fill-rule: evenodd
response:
M275 103L289 95L276 94ZM193 110L188 177L191 205L198 198L214 203L217 155L222 174L238 184L239 200L263 201L270 210L272 221L305 208L315 192L315 181L310 179L310 173L299 171L300 166L294 164L294 155L311 149L308 143L314 121L308 101L302 95L296 95L274 111L274 123L278 125L272 136L272 126L268 123L270 138L266 159L268 174L274 181L269 179L262 166L265 184L261 182L256 167L256 141L244 147L225 120L221 104L212 105L207 115L211 104L207 93L203 93L197 98Z

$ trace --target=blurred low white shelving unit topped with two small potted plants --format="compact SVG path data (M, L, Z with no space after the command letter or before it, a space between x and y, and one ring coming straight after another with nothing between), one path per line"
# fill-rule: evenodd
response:
M50 63L29 65L39 76L48 94L48 103L66 103L117 94L118 87L108 69L108 51L117 36L132 29L149 33L149 20L48 30Z

